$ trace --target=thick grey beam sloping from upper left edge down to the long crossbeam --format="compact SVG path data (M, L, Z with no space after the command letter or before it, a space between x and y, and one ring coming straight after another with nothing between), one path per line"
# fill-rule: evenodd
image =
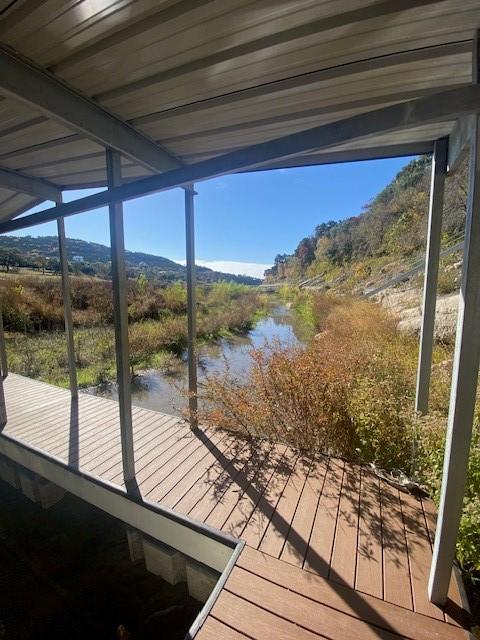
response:
M181 165L156 142L11 49L0 46L0 92L154 171Z

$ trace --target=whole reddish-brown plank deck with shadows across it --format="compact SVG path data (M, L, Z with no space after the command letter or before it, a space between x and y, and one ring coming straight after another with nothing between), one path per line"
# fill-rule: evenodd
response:
M118 405L10 374L5 434L123 484ZM133 408L143 497L246 542L209 638L467 638L452 579L446 613L427 598L435 512L365 467L248 442Z

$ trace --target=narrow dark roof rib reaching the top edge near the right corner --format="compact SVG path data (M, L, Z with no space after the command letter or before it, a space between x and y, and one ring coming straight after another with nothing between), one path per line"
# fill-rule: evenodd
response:
M251 55L252 53L272 47L278 47L287 42L308 38L309 36L356 24L364 20L380 18L398 12L408 11L409 9L417 9L433 4L435 1L436 0L402 0L402 2L392 2L391 0L381 0L371 5L351 9L350 11L342 11L335 15L312 20L282 31L274 30L272 33L257 38L256 40L249 40L248 42L226 47L203 58L191 60L176 67L171 67L170 69L140 78L135 82L115 87L114 89L102 91L96 98L99 100L112 100L120 96L123 97L128 93L150 87L153 84L165 82L173 78L177 79L182 75L208 69L214 65L221 65L242 56Z

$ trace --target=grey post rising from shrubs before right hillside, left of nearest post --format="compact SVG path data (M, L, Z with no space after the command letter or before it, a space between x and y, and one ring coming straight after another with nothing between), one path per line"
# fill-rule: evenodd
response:
M420 334L417 391L415 397L415 410L423 414L428 412L428 399L430 394L435 309L437 305L438 265L442 238L443 193L446 173L447 140L443 138L435 142L430 183L422 329Z

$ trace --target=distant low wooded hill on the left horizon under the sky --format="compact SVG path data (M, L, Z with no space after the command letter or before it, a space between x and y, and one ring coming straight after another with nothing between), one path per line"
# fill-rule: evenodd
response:
M14 256L11 266L30 266L33 268L58 268L58 239L56 236L0 236L0 264L2 256ZM73 271L89 275L107 276L110 268L110 248L97 242L87 242L77 238L67 238L67 254ZM184 280L186 269L183 265L149 253L126 251L126 264L130 276L140 273L158 277L165 281ZM219 282L228 280L242 284L257 285L258 278L221 273L197 266L197 278L200 282Z

